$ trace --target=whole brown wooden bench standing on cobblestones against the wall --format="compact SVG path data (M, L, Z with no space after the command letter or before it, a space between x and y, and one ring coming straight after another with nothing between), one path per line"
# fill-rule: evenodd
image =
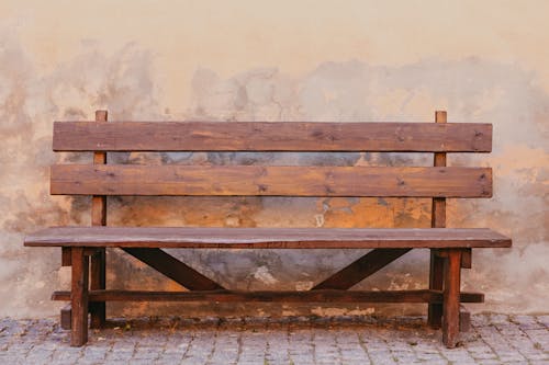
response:
M460 271L472 248L511 247L490 229L446 227L446 198L492 196L490 168L446 167L447 152L490 152L492 125L446 123L205 123L115 122L98 111L94 122L56 122L55 151L93 151L92 164L55 164L51 193L91 195L92 227L54 227L25 238L29 247L60 247L71 266L70 301L61 324L71 345L87 342L105 321L105 301L425 303L428 323L456 346L460 303L481 303L460 290ZM294 167L109 164L108 151L381 151L434 152L434 167ZM107 196L344 196L433 198L433 228L152 228L108 227ZM289 212L290 214L290 212ZM181 284L188 292L112 290L105 283L105 248L119 248ZM304 292L232 290L163 251L179 249L372 249L320 277ZM348 290L412 249L430 249L429 287L422 290ZM461 317L462 327L467 317Z

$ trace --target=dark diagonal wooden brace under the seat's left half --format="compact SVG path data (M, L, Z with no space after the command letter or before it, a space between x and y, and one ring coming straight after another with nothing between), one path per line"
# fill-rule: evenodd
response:
M124 248L135 259L181 284L189 290L220 290L223 286L160 249Z

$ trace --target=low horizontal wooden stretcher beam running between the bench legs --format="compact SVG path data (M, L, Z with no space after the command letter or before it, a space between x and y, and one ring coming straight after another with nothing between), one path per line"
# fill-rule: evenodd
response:
M52 299L66 300L70 292L55 292ZM143 290L93 290L94 301L271 301L271 303L441 303L442 292L436 290L309 290L309 292L143 292ZM482 303L481 293L461 293L461 303Z

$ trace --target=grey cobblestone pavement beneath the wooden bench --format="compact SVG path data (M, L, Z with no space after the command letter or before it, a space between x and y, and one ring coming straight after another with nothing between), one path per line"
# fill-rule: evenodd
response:
M0 364L549 364L549 316L473 316L447 350L424 318L116 320L70 347L54 319L0 319Z

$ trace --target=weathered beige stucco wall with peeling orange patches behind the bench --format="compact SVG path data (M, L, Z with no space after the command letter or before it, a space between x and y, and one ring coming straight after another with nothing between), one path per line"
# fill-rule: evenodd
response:
M52 152L54 119L433 121L494 124L486 156L494 197L449 202L450 227L491 227L511 250L479 250L464 288L486 293L472 310L549 309L549 27L547 1L277 1L258 3L69 1L0 3L0 315L53 315L66 286L56 250L25 249L25 232L88 225L87 198L48 195L48 166L90 156ZM374 153L165 153L112 161L386 164ZM416 156L428 164L430 156ZM428 227L426 199L119 198L111 225ZM55 251L55 252L54 252ZM186 251L189 264L233 288L304 289L363 252ZM178 286L110 251L116 287ZM427 280L417 251L360 288L414 288ZM131 280L130 280L131 278ZM145 313L149 305L110 307ZM152 306L150 306L152 307ZM155 305L155 313L235 315L234 307ZM397 313L422 307L259 306L250 315ZM147 311L146 313L150 313ZM240 311L242 312L242 311Z

